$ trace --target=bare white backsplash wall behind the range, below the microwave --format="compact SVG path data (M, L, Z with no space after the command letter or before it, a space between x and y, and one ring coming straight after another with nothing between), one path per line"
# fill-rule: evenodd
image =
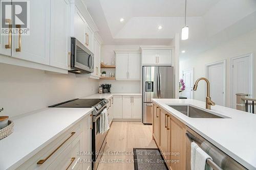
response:
M97 80L0 63L0 107L19 115L98 92Z

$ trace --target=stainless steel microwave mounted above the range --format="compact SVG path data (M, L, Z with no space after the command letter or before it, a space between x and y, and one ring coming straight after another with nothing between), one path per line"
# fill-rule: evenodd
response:
M71 37L71 61L69 72L85 74L93 72L94 54L76 38Z

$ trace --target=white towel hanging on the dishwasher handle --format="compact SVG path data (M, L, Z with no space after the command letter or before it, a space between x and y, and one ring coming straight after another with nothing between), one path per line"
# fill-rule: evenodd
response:
M195 142L191 142L191 170L205 170L212 169L206 163L206 159L212 158L206 154Z

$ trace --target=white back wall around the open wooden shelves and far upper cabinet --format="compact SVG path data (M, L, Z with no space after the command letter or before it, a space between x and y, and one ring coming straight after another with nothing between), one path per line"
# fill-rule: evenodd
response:
M101 46L101 59L108 65L115 65L116 55L114 50L138 50L140 45L102 45ZM109 72L115 72L115 69L106 70L106 76L109 76ZM116 81L116 80L101 80L99 84L111 84L112 92L140 92L140 81Z

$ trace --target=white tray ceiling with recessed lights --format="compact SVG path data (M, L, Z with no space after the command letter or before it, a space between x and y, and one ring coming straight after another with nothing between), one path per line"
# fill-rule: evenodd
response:
M104 44L170 45L175 34L181 33L184 27L185 0L83 1ZM187 0L189 39L181 41L181 50L205 50L205 44L215 44L209 43L209 39L219 43L227 28L233 25L238 27L238 23L245 22L246 18L253 29L251 19L254 19L255 11L255 0ZM120 22L120 18L124 21ZM159 26L162 26L161 30L158 30ZM245 30L248 31L248 28L241 27L236 31L243 33ZM234 35L238 34L234 32ZM229 35L229 38L232 36Z

